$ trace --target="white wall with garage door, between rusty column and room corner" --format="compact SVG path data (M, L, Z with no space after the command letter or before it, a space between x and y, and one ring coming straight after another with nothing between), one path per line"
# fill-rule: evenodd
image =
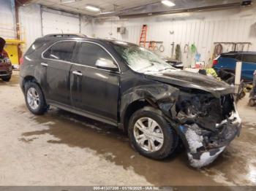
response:
M1 0L0 0L1 1ZM42 13L42 14L41 14ZM42 17L41 17L42 15ZM91 21L86 17L60 12L40 7L39 4L30 4L19 8L20 26L23 28L23 39L26 45L23 51L29 48L35 39L53 33L82 33L92 34Z

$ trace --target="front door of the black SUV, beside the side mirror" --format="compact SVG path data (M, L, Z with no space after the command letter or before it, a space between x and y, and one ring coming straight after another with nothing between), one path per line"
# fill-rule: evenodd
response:
M98 69L98 59L114 59L110 53L94 42L80 42L80 49L71 69L72 104L89 117L116 123L118 113L119 79L116 71ZM117 63L116 63L117 64ZM100 119L99 119L100 120Z

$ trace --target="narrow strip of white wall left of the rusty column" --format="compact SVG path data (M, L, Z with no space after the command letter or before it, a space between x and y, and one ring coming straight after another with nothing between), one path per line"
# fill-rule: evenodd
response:
M0 0L0 36L13 39L16 36L13 0Z

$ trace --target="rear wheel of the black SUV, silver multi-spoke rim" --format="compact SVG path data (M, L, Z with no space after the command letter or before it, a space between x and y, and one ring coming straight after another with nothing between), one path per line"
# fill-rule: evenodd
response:
M29 111L33 114L44 114L48 110L48 105L45 102L45 97L42 90L35 82L26 83L25 101Z

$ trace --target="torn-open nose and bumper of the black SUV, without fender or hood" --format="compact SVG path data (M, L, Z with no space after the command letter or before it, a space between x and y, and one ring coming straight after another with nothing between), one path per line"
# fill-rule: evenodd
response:
M212 163L241 129L233 95L182 93L172 110L178 133L187 148L190 164L200 168Z

